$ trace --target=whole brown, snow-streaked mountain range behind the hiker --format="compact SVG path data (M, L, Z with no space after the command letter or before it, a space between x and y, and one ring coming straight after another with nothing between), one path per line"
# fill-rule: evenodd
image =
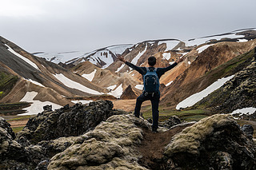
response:
M142 76L116 60L115 53L122 53L127 61L138 66L146 66L150 56L157 58L157 67L166 67L184 57L182 63L161 77L160 104L170 109L186 108L191 105L180 104L189 100L186 98L234 74L230 69L222 73L217 68L254 49L255 38L256 29L251 28L187 41L162 39L112 45L90 53L34 53L41 57L1 38L0 102L34 102L32 105L42 110L42 105L56 104L59 108L101 97L136 98L142 93Z

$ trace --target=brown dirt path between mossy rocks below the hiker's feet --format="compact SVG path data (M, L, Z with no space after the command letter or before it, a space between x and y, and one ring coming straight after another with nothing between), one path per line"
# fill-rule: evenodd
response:
M182 129L190 125L178 126L169 131L158 133L153 133L150 129L143 128L144 140L137 148L138 152L142 154L142 159L139 160L139 163L149 169L160 169L159 162L162 160L164 148L170 143L172 136L182 132Z

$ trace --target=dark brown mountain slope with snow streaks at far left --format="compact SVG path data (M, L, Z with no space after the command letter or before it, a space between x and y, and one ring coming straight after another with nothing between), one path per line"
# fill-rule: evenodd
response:
M1 103L34 102L30 113L38 113L42 105L57 109L73 104L68 97L107 92L70 70L27 53L5 38L0 37L0 42Z

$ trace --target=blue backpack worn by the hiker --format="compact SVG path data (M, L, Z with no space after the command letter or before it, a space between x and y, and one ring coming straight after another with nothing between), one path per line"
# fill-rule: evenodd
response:
M157 74L157 68L149 69L146 67L146 74L143 75L143 84L144 84L144 92L147 93L153 93L152 96L154 96L154 93L159 93L159 79Z

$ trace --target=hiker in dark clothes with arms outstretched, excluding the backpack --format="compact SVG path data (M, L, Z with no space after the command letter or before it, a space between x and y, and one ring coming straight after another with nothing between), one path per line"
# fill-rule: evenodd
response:
M132 69L135 69L136 71L138 71L138 73L141 73L142 77L144 75L146 75L147 70L154 69L155 72L157 73L158 80L164 73L166 73L166 71L173 69L176 65L178 65L179 62L183 61L182 58L179 58L177 61L174 62L174 64L169 65L165 68L154 68L154 65L156 64L156 58L154 56L152 56L152 57L148 58L148 66L149 67L146 68L146 67L138 67L138 66L126 61L124 59L124 57L122 57L120 54L118 54L117 57L118 57L119 61L124 62L126 65L128 65ZM159 87L158 87L157 93L147 93L147 92L145 92L145 82L144 82L143 92L136 100L136 105L135 105L135 109L134 109L135 117L139 117L142 103L144 101L148 101L148 100L151 101L151 105L152 105L152 117L153 117L152 132L158 132L158 117L159 117L158 105L159 105L159 101L160 101Z

